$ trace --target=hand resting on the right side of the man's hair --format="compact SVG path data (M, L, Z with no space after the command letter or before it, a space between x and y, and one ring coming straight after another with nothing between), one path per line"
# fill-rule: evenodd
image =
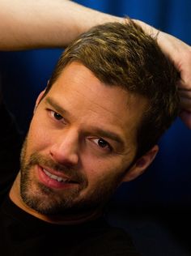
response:
M159 32L157 29L140 20L136 20L136 22L146 32L157 36L157 41L163 53L172 60L176 66L176 70L180 72L180 81L178 82L180 118L191 129L191 47L175 36L165 32Z

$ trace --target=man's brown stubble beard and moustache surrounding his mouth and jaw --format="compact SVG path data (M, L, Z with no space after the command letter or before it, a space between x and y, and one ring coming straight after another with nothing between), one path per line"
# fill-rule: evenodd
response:
M86 212L95 211L103 208L108 199L117 188L118 181L110 182L109 186L104 184L98 186L86 198L80 198L80 191L87 187L87 179L79 173L78 170L56 164L53 160L47 160L38 153L32 153L26 157L28 138L23 143L20 156L21 177L20 177L20 195L23 202L33 210L43 215L82 215ZM70 190L58 193L39 181L32 178L32 168L36 165L45 165L50 169L59 170L74 177L79 181L79 186ZM107 182L106 182L107 183Z

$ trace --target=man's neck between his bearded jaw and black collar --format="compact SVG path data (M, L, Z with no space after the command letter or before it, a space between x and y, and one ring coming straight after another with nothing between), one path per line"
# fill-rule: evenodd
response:
M11 187L9 194L11 201L15 203L15 205L21 208L23 211L26 211L29 215L33 215L34 217L43 220L45 222L49 222L52 224L81 224L90 220L95 220L98 218L102 211L100 209L96 209L96 211L87 211L85 213L80 213L78 215L44 215L38 211L35 211L31 207L28 207L26 203L23 202L23 199L20 195L20 173L15 179L13 186Z

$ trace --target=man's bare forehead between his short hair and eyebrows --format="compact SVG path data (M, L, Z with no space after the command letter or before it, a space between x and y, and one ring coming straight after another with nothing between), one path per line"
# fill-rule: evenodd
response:
M122 139L131 138L132 141L136 140L136 130L146 105L142 96L101 83L79 62L66 66L48 96L74 121L113 130Z

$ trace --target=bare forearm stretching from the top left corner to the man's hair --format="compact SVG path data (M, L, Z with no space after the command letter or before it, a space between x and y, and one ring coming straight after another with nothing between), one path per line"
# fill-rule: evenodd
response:
M92 26L117 17L67 0L1 0L0 50L64 47Z

